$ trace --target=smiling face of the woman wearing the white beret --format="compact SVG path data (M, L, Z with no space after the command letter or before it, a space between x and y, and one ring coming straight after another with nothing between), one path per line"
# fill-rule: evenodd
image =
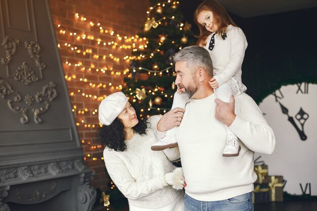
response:
M135 110L129 101L127 102L123 111L118 115L118 119L121 120L125 126L125 129L133 128L139 122Z

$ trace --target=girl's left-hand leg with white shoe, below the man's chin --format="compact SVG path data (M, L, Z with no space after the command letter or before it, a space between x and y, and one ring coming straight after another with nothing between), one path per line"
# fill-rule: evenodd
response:
M171 109L174 109L177 107L185 109L186 102L187 102L186 98L184 98L182 95L175 92L174 98L173 98L173 105ZM172 128L171 130L168 130L165 136L163 136L158 142L152 145L151 149L155 151L160 151L167 148L176 147L178 145L175 138L176 129L177 129L177 126Z

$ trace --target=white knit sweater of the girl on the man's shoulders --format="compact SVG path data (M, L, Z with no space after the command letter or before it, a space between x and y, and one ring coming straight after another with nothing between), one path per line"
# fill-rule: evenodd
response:
M214 36L215 46L212 51L208 49L208 46L215 32L207 37L207 45L204 47L213 61L214 72L217 73L214 77L219 87L232 76L236 76L241 81L242 62L248 47L246 36L241 28L229 25L226 31L225 40L217 34Z

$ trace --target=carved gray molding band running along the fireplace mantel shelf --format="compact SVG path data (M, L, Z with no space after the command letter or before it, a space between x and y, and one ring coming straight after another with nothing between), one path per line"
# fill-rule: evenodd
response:
M15 167L0 167L0 187L69 177L91 172L83 159L29 163Z

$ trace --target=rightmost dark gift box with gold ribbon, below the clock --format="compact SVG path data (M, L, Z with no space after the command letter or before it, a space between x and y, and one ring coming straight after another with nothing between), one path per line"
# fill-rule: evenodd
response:
M270 201L283 201L283 176L269 176Z

